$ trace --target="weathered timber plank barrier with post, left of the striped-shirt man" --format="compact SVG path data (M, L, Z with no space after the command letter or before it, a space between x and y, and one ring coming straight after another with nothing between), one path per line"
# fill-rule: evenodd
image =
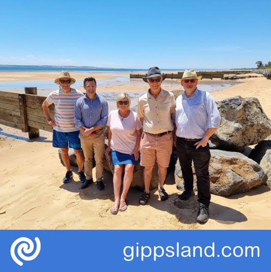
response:
M25 87L24 94L0 91L0 124L28 132L29 138L39 137L39 129L52 132L42 110L45 96L37 95L36 87ZM55 106L49 105L52 118Z

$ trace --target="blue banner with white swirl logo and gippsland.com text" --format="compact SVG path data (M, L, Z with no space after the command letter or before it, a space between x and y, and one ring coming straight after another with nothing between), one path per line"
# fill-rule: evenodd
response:
M256 271L270 230L1 230L1 271Z

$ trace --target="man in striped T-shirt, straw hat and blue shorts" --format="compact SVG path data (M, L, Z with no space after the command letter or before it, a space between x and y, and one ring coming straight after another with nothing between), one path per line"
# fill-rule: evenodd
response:
M75 79L70 77L68 71L62 71L55 83L59 84L60 88L51 92L42 103L47 122L53 126L52 146L61 148L61 157L67 169L63 182L69 182L73 177L68 154L69 147L73 148L76 156L80 182L85 182L86 176L83 172L84 156L78 138L79 130L75 127L74 121L74 104L79 97L83 96L83 93L71 88L71 85L75 83ZM48 109L48 106L52 103L55 104L55 119L51 118Z

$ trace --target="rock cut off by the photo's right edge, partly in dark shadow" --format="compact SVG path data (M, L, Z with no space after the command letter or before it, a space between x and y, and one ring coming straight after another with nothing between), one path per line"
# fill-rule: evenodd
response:
M271 187L271 140L262 141L256 145L249 158L255 160L267 174L267 185Z

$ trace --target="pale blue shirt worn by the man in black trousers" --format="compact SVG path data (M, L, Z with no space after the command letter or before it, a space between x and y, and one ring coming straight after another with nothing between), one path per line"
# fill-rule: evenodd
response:
M185 92L177 97L175 124L178 137L201 139L207 128L219 127L220 121L218 107L208 92L196 89L191 97Z

